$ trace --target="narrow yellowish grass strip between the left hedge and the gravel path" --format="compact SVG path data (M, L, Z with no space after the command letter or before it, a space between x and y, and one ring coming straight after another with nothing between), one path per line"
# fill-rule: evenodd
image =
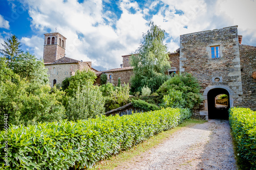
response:
M206 120L200 120L200 119L188 119L184 123L180 124L179 126L161 132L150 139L134 146L133 148L122 151L117 155L113 155L109 159L102 160L94 165L94 167L90 168L92 170L96 169L114 169L116 166L121 165L124 162L128 162L134 159L135 156L139 156L143 152L146 152L150 150L151 148L156 147L158 144L164 142L167 138L169 138L174 132L179 131L180 129L184 127L192 127L196 124L203 124Z

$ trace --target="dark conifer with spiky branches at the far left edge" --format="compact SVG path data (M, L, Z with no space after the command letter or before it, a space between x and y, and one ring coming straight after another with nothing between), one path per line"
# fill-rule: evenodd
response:
M20 45L20 42L18 42L18 38L15 35L12 35L11 39L7 39L7 42L5 41L2 45L4 46L4 49L0 50L0 53L4 55L9 64L15 61L18 55L23 53L23 51L19 49L22 45Z

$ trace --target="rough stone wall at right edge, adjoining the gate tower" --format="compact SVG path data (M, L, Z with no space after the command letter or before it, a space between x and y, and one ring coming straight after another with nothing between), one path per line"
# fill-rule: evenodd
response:
M243 95L239 106L256 110L256 82L252 73L256 71L256 46L239 45Z

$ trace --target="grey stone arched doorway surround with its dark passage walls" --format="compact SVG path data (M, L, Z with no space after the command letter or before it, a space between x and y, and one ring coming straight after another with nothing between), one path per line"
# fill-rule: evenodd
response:
M235 93L228 86L208 86L205 88L203 93L204 110L200 111L200 115L205 115L206 120L208 120L208 118L218 118L218 115L214 115L214 111L216 110L212 109L212 107L215 105L215 103L213 104L212 102L215 102L214 98L218 94L227 94L229 99L228 108L233 107ZM228 115L224 118L228 118Z

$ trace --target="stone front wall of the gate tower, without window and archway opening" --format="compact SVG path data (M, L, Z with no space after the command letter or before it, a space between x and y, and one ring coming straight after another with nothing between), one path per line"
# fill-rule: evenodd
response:
M211 58L211 46L220 46L220 58ZM241 100L242 80L237 26L180 36L180 71L190 72L202 88L207 119L207 92L221 88L229 92L230 106Z

